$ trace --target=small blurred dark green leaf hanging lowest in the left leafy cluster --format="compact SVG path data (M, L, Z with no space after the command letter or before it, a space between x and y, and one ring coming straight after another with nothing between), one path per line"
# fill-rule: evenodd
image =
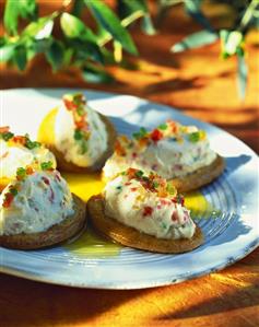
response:
M90 83L110 83L114 81L114 78L108 72L91 63L82 68L82 77Z

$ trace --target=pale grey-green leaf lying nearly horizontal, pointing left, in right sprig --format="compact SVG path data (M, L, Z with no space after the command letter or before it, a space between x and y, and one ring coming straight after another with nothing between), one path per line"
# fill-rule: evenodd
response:
M204 45L214 43L219 38L216 33L209 31L200 31L185 37L181 42L175 44L172 48L172 52L181 52L187 49L198 48Z

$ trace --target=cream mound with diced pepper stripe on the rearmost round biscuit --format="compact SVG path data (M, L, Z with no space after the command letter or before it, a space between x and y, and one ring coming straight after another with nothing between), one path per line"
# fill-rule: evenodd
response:
M105 124L82 94L66 95L63 100L55 122L56 148L68 162L81 167L94 165L108 147Z

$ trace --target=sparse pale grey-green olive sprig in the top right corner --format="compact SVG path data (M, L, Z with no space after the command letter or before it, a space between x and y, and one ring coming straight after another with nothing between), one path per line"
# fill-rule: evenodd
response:
M168 14L168 11L177 4L183 4L189 14L202 30L185 37L181 42L172 46L172 52L180 52L187 49L213 44L221 39L221 56L226 59L237 57L237 85L240 98L246 95L248 68L245 60L245 37L249 30L259 27L259 0L213 0L210 3L223 3L228 7L234 15L233 25L229 27L212 26L203 11L202 0L160 0L157 23ZM208 1L207 1L208 2Z

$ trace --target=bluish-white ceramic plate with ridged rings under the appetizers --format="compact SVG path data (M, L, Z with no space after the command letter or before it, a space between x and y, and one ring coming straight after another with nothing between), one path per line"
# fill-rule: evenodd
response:
M79 90L22 89L1 91L1 124L36 137L45 114L66 92ZM83 90L82 90L83 91ZM23 252L0 248L1 270L33 280L81 288L141 289L172 284L222 269L245 257L259 244L258 156L227 132L187 117L176 109L134 96L83 91L90 105L111 117L118 132L154 127L167 118L207 130L212 148L226 160L224 174L202 189L215 219L198 220L205 234L199 248L183 255L160 255L121 248L117 256L82 257L57 246Z

